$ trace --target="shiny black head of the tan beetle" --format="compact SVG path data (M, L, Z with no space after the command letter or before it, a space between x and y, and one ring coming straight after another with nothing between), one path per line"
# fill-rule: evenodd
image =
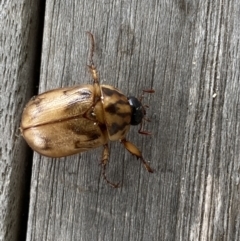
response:
M144 117L144 108L141 102L134 96L128 97L128 103L132 108L131 125L138 125Z

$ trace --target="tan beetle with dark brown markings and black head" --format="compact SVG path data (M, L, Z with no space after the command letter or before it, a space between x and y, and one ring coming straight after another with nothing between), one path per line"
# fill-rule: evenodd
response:
M117 188L119 183L110 182L105 173L109 141L119 140L148 172L153 172L141 151L126 140L130 125L140 124L138 132L150 134L142 130L146 106L141 103L143 95L140 99L126 97L113 86L100 85L93 63L94 37L90 32L87 34L91 39L88 68L93 84L54 89L32 97L23 110L20 131L34 151L48 157L64 157L103 146L102 175Z

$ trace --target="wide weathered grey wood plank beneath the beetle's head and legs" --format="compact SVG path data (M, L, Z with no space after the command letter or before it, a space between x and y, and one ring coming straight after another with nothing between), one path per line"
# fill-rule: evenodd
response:
M47 1L40 92L101 83L146 96L147 129L128 139L147 173L111 143L67 158L34 155L27 240L238 240L239 10L229 1Z

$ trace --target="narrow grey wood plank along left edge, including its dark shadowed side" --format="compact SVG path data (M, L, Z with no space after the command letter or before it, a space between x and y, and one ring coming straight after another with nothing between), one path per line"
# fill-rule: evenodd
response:
M29 148L18 128L22 109L34 91L39 2L0 3L0 240L4 241L26 236L27 170L32 157L28 159Z

